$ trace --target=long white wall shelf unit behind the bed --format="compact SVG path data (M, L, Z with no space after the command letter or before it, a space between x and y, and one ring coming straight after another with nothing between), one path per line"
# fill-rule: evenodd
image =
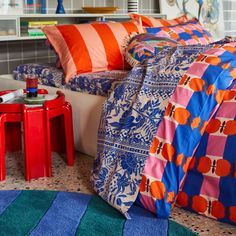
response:
M165 18L163 14L147 14L155 18ZM0 15L0 41L37 40L45 36L27 36L23 33L22 22L56 20L58 24L78 24L88 21L129 19L127 14L22 14L16 16Z

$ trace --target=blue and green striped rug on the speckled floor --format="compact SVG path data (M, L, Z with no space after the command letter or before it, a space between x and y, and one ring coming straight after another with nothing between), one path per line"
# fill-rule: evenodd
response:
M56 191L0 191L1 236L195 235L133 206L131 220L95 195Z

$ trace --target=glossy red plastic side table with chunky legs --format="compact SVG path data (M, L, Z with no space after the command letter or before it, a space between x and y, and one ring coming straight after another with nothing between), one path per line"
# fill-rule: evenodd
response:
M0 92L0 95L6 92L9 91ZM39 90L40 93L45 94L47 90ZM5 179L5 150L21 149L21 123L26 180L52 176L51 151L66 152L67 165L74 164L72 108L62 92L58 91L57 95L39 107L0 104L1 137L5 135L5 143L0 142L0 180ZM14 144L13 140L16 141Z

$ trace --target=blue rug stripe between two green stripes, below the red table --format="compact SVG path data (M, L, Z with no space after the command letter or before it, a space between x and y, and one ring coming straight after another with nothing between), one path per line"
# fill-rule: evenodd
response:
M31 236L74 235L91 195L59 192Z

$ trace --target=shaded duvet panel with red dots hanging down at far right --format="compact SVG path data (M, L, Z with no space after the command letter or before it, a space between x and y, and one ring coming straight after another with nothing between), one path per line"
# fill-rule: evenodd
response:
M236 81L224 96L190 163L177 204L236 224Z

